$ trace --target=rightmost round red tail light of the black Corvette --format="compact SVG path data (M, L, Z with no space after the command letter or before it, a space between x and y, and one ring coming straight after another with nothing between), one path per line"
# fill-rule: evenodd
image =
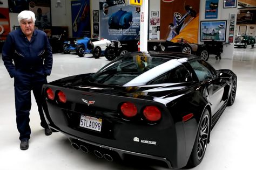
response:
M147 121L156 122L161 118L161 111L155 106L147 106L143 111L143 115Z

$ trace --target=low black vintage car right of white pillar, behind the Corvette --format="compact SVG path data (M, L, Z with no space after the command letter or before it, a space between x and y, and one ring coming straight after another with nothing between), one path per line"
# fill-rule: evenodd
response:
M206 61L209 58L207 46L201 44L172 42L167 40L148 40L147 49L148 51L169 51L194 54Z

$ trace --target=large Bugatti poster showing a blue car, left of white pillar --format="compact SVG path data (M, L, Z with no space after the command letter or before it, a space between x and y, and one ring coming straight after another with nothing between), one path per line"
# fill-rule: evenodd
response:
M136 39L140 30L140 9L125 1L100 1L100 38L109 40Z

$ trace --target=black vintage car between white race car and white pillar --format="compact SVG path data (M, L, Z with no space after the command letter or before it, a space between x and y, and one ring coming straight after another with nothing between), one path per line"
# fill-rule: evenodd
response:
M138 42L139 40L117 40L111 41L112 43L107 46L105 50L105 58L107 60L113 60L119 55L124 55L129 52L138 51Z

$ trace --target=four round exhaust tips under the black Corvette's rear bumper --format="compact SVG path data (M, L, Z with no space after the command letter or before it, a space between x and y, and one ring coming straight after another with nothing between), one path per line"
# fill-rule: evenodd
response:
M75 150L81 150L84 153L89 153L89 149L87 146L80 144L80 142L76 139L71 139L71 145L73 148L75 148ZM104 158L107 161L112 162L113 161L113 157L111 156L110 153L102 153L104 152L104 150L93 150L93 153L96 155L96 157L102 159Z

